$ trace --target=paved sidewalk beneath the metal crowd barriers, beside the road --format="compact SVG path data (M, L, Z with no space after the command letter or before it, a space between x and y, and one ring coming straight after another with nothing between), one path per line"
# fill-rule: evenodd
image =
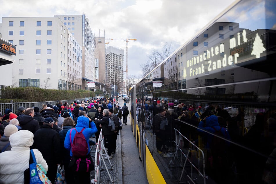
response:
M94 139L95 141L95 139ZM95 151L95 146L92 148L93 151ZM95 153L93 153L95 154ZM91 154L92 155L92 154ZM95 163L95 158L93 158L93 161ZM105 164L107 165L107 168L111 168L109 165L109 162L107 159L104 160ZM116 154L113 154L113 158L110 159L112 169L109 169L109 174L112 178L113 183L115 184L122 184L123 183L123 178L122 178L122 151L121 151L121 131L119 135L117 136L117 147L116 147ZM94 180L95 179L95 170L93 170L90 173L90 179ZM102 162L102 169L100 172L100 180L98 183L101 184L106 184L106 183L112 183L110 181L110 178L108 176L107 170L104 167L104 163Z

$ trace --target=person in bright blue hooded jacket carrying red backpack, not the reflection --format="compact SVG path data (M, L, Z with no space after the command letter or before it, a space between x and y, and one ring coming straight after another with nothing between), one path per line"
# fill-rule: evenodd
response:
M82 133L86 139L88 147L90 147L89 138L92 137L92 135L98 131L95 123L93 121L91 121L91 122L89 122L89 121L90 121L90 118L86 114L84 116L79 116L77 118L77 125L75 127L75 129L78 132L82 131L82 129L85 128ZM64 147L66 149L70 150L70 156L73 156L72 149L71 149L71 142L70 142L70 132L71 132L71 130L69 130L66 133L65 140L64 140ZM72 133L71 133L72 143L74 141L75 134L76 134L76 131L73 129ZM91 157L90 149L88 149L88 152L86 155L87 155L87 158ZM75 183L89 183L90 184L90 172L84 172L84 173L74 172L74 180L75 180Z

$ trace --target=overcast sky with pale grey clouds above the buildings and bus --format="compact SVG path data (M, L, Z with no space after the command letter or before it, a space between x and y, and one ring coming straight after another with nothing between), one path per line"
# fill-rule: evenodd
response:
M128 43L128 75L141 74L153 49L164 42L174 49L193 37L235 0L0 0L2 17L52 17L82 15L105 38L137 39ZM124 41L106 41L125 50ZM125 66L124 66L125 68ZM124 70L125 71L125 70Z

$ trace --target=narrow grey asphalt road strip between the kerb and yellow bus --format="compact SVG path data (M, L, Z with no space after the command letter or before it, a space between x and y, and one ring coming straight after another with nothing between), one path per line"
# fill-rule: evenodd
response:
M119 102L120 107L122 107L124 104L122 97L120 97ZM127 106L130 110L129 103L127 103ZM139 160L138 148L136 146L136 140L131 131L129 117L127 119L127 125L123 125L121 130L121 149L123 183L148 183L146 172L142 166L142 162Z

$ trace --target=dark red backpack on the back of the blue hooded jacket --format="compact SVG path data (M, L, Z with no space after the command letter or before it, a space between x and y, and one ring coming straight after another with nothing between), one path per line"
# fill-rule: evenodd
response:
M82 131L84 129L85 128L83 128ZM86 139L85 139L84 135L82 134L82 131L77 132L77 130L75 129L76 134L75 134L75 137L74 137L74 140L73 140L73 143L72 143L72 138L71 138L72 130L73 129L71 129L69 135L70 135L70 142L71 142L71 148L72 148L73 156L75 156L75 157L85 157L86 154L88 153L88 145L87 145Z

